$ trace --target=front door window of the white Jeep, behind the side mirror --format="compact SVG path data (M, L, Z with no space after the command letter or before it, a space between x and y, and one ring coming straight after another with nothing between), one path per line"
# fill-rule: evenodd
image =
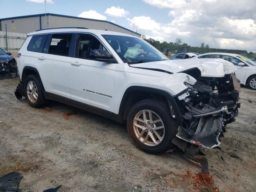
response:
M76 57L82 59L91 59L91 50L105 49L100 41L90 34L79 34L76 40Z

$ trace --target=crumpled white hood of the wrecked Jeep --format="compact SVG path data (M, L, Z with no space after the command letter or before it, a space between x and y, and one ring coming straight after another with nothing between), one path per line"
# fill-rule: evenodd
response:
M164 70L171 73L179 73L192 68L198 68L201 71L202 77L223 77L225 74L232 74L237 70L236 66L231 62L223 59L197 58L132 64L132 67Z

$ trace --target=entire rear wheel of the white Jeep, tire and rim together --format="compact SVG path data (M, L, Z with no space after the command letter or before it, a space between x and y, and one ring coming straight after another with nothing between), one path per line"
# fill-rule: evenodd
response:
M31 87L32 89L30 89ZM32 90L34 94L32 94ZM30 92L30 94L28 94L28 92ZM42 83L39 81L36 75L27 76L24 83L24 93L25 93L28 105L31 107L40 108L47 104L47 100L44 97Z

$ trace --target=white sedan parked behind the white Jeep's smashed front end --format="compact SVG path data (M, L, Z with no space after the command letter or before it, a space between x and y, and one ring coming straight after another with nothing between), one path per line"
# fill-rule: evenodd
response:
M197 56L201 58L220 58L227 60L237 67L236 76L243 85L256 90L256 63L242 55L231 53L205 53Z

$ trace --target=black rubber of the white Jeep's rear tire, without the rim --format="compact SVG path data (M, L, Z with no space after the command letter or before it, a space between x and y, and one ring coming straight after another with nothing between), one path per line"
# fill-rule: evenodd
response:
M37 98L36 102L34 102L34 103L31 102L28 99L27 84L28 84L29 81L33 81L36 84L37 91L38 91L38 98ZM35 76L35 75L27 76L27 78L25 80L25 84L24 84L24 93L25 93L26 100L27 100L29 106L32 106L32 107L35 107L35 108L44 106L44 102L45 102L44 93L43 93L43 90L42 90L42 85L39 82L37 76Z

